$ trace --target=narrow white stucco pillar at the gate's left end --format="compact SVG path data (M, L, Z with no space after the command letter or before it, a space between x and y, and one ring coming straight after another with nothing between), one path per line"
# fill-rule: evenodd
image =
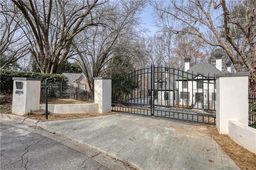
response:
M99 104L99 113L111 112L111 78L94 77L94 103Z

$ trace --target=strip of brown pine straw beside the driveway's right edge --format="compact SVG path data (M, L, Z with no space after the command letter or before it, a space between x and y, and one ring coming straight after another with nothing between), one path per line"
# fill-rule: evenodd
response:
M228 135L219 134L216 126L208 125L207 128L224 152L230 156L242 170L256 169L256 154L238 145Z

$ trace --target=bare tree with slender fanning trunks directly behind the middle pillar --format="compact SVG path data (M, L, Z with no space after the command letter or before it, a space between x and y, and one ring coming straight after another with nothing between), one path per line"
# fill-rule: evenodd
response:
M94 29L80 32L74 40L77 56L74 58L80 64L86 75L89 87L94 91L94 77L109 75L108 62L118 51L122 56L131 57L136 51L138 34L140 33L139 12L144 8L144 1L112 1L98 10L101 16ZM86 38L83 38L85 37ZM80 42L75 43L75 42Z

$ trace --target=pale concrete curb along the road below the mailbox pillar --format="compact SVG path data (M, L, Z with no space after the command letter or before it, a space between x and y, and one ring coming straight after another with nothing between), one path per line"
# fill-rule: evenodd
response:
M4 120L4 121L12 121L14 123L24 123L29 126L38 125L38 120L30 119L30 118L18 116L18 115L0 113L0 118L1 120Z

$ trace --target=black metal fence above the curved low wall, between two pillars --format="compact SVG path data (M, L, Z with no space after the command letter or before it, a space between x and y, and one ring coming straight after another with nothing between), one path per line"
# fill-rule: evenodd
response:
M48 101L57 99L76 99L80 101L94 101L94 93L82 91L66 83L41 83L40 103L45 103L46 87L48 88Z

